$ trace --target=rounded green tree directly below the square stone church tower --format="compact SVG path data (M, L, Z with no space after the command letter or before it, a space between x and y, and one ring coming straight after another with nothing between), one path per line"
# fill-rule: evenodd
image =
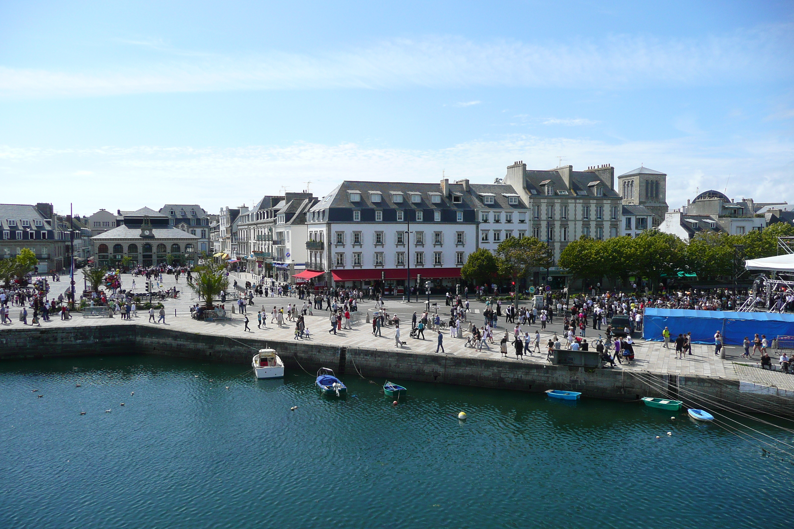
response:
M648 278L656 292L661 274L668 276L686 266L684 241L658 229L647 230L630 243L630 269Z

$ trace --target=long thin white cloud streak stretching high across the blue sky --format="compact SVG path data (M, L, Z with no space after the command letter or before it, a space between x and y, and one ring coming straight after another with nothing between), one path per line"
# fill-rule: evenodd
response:
M460 37L384 40L314 54L250 56L174 50L160 40L133 44L161 52L158 63L96 71L0 67L0 94L61 97L206 90L403 88L427 86L713 85L789 78L791 24L699 40L611 36L599 42L473 42Z

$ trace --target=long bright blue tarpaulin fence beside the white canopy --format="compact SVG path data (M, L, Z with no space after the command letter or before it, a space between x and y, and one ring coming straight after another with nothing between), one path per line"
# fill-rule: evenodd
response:
M714 343L715 332L727 345L742 345L745 336L766 335L769 343L778 335L794 335L794 314L735 312L724 310L646 309L642 338L661 341L668 327L670 340L692 332L692 343Z

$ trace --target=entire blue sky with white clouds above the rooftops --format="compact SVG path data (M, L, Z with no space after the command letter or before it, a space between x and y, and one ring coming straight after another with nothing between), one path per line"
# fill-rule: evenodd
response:
M288 3L288 5L287 5ZM794 204L792 2L2 2L0 201L641 163Z

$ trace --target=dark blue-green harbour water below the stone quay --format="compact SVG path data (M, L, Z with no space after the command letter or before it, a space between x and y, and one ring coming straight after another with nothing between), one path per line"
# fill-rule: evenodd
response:
M0 527L792 527L794 466L683 412L245 370L0 364Z

